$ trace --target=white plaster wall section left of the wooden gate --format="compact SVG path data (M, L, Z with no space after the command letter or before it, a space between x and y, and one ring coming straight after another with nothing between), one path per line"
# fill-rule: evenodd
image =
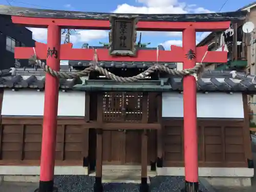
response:
M86 92L59 92L58 116L84 116ZM4 91L2 115L44 115L45 92L36 90Z

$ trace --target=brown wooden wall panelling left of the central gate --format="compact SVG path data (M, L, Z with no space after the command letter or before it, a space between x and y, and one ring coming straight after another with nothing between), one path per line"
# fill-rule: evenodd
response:
M83 157L88 156L89 129L83 123L74 123L74 120L74 118L60 118L58 120L56 164L82 165ZM83 118L81 120L84 122ZM2 117L1 133L1 165L39 165L42 118Z

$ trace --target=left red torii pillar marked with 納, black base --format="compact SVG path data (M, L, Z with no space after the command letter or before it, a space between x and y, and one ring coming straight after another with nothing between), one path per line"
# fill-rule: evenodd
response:
M47 34L47 65L59 71L60 28L48 26ZM46 73L44 120L42 124L42 147L40 160L39 192L57 191L53 187L55 145L58 115L59 79Z

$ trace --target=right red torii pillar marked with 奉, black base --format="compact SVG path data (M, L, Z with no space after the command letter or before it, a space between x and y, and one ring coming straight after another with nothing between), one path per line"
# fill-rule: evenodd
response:
M184 51L183 69L196 65L196 30L193 26L182 34ZM184 161L185 191L197 192L198 185L198 134L197 134L197 84L194 76L183 78L183 118L184 118Z

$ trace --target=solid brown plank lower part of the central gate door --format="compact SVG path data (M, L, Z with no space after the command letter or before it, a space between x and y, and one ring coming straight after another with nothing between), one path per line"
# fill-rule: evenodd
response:
M140 132L104 130L102 155L103 164L140 164Z

